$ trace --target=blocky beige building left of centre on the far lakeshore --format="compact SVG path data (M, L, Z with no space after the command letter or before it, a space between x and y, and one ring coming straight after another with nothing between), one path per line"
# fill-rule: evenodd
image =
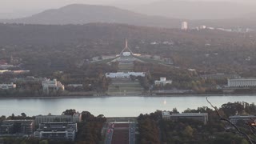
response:
M53 81L46 79L45 81L42 81L42 90L44 93L49 94L50 90L55 92L58 90L65 90L65 87L61 82L57 81L57 79L54 79Z

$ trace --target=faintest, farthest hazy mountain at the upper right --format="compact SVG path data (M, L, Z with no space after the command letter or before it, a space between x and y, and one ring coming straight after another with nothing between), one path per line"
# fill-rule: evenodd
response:
M122 9L140 14L159 15L166 18L223 19L241 18L256 12L256 4L237 2L189 2L186 0L162 0L146 5L123 5Z

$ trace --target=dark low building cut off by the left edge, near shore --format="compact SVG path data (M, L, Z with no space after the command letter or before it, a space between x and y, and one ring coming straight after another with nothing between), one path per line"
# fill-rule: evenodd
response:
M0 126L0 134L33 134L34 120L5 120Z

